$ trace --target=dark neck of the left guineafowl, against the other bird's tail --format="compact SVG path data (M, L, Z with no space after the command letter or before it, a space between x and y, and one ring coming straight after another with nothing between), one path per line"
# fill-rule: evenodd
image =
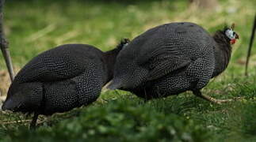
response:
M107 69L107 77L105 83L109 82L113 78L114 65L117 60L117 54L119 54L121 48L117 47L113 50L109 50L104 53L105 67Z

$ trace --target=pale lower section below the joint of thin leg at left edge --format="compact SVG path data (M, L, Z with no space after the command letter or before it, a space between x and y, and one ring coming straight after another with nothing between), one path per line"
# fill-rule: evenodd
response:
M6 61L8 72L10 74L10 79L13 81L13 79L14 79L13 64L12 64L12 60L10 58L10 51L6 47L7 45L5 45L5 44L7 44L7 42L5 40L2 40L0 43L0 46L1 46L3 57L5 58L5 61Z

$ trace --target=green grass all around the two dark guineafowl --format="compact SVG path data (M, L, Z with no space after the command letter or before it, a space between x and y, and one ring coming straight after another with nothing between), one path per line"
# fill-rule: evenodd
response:
M133 39L163 23L192 21L215 32L225 23L235 22L240 39L233 47L231 62L202 92L218 99L242 99L216 105L185 92L144 103L128 92L107 91L89 107L40 116L40 127L35 131L28 129L26 120L30 118L0 111L0 141L256 140L255 49L249 77L243 76L256 2L222 0L219 4L216 12L207 12L189 8L185 0L6 2L5 30L16 69L36 54L64 43L87 43L110 50L121 38ZM3 66L1 56L2 70ZM1 86L7 84L0 80Z

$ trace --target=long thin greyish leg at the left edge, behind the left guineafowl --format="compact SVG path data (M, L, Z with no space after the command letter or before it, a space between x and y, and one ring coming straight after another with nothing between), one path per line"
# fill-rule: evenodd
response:
M13 64L10 58L10 51L8 49L8 42L5 38L5 34L2 28L2 23L3 23L3 13L2 13L2 8L4 5L5 0L0 0L0 48L2 50L2 54L6 60L6 65L8 72L10 74L10 79L13 81L14 79L14 72L13 72Z

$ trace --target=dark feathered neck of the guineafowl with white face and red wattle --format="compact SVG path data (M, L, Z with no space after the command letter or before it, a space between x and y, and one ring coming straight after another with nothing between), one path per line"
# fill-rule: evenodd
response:
M213 39L216 41L216 46L214 47L215 69L212 77L216 77L227 68L231 58L231 43L223 31L217 31Z

